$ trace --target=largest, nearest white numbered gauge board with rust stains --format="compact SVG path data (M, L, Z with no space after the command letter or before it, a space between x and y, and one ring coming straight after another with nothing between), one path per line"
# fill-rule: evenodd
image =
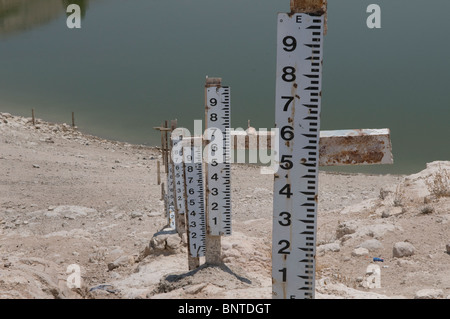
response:
M323 16L278 14L273 298L314 298Z

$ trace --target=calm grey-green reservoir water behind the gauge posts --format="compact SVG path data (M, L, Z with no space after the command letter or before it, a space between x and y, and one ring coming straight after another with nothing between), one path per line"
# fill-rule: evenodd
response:
M369 29L367 6L381 8ZM81 29L66 25L70 3ZM231 87L233 128L274 125L276 14L288 0L0 0L0 112L159 145L164 120L193 130L205 77ZM450 2L329 1L322 130L389 128L394 164L450 159ZM329 169L330 170L330 169Z

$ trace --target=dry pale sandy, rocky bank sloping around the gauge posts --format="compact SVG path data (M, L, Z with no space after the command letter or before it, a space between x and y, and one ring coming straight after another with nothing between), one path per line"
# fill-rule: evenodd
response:
M271 298L273 176L233 164L224 265L189 271L181 239L155 237L167 224L158 159L0 113L0 298ZM316 297L450 298L450 193L427 186L446 172L448 161L410 176L320 172Z

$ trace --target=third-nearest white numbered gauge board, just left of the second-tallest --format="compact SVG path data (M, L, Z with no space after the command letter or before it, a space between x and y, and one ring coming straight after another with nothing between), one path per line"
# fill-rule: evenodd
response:
M201 147L191 146L190 154L184 152L184 165L189 253L202 257L206 250L206 221Z

